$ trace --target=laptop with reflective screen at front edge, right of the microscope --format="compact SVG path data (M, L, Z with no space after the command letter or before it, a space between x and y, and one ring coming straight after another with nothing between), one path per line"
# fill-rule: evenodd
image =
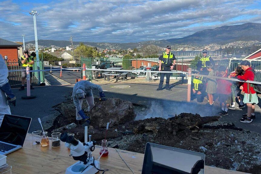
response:
M205 155L146 143L142 174L204 174Z

